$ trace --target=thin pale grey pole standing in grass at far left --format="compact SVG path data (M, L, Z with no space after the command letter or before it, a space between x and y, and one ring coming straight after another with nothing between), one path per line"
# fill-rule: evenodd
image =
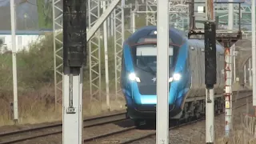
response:
M13 58L13 82L14 82L14 122L18 122L18 90L17 90L17 66L16 66L16 35L15 35L15 12L14 0L10 0L11 18L11 44Z

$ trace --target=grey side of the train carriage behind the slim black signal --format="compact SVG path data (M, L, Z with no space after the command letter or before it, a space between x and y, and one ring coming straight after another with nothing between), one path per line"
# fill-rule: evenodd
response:
M188 98L200 97L206 94L205 86L205 53L203 40L188 40L189 67L191 73L191 85ZM224 81L224 48L216 46L217 82L214 85L214 93L222 94L225 88Z

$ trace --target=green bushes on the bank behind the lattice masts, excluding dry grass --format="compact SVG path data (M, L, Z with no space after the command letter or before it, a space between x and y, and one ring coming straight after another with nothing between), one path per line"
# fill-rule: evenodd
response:
M136 18L136 27L145 26L145 18ZM127 27L127 26L126 26ZM130 35L126 31L125 37ZM62 34L59 34L62 39ZM18 74L18 90L38 90L42 86L54 83L54 38L52 34L47 34L45 38L42 38L38 42L30 43L29 51L20 51L17 53L17 74ZM57 43L57 47L61 45ZM102 74L102 86L105 83L105 60L104 60L104 45L103 41L100 42L101 50L101 74ZM59 55L62 55L62 50L59 51ZM89 84L90 79L90 64L89 64L89 48L87 49L87 64L84 67L84 83L85 86ZM110 85L114 85L114 38L108 38L108 58L109 58L109 77ZM62 63L62 60L57 58L58 63ZM0 55L0 90L13 90L12 81L12 55L1 54ZM59 69L60 71L62 70ZM103 88L102 87L102 88ZM112 86L114 87L114 86Z

